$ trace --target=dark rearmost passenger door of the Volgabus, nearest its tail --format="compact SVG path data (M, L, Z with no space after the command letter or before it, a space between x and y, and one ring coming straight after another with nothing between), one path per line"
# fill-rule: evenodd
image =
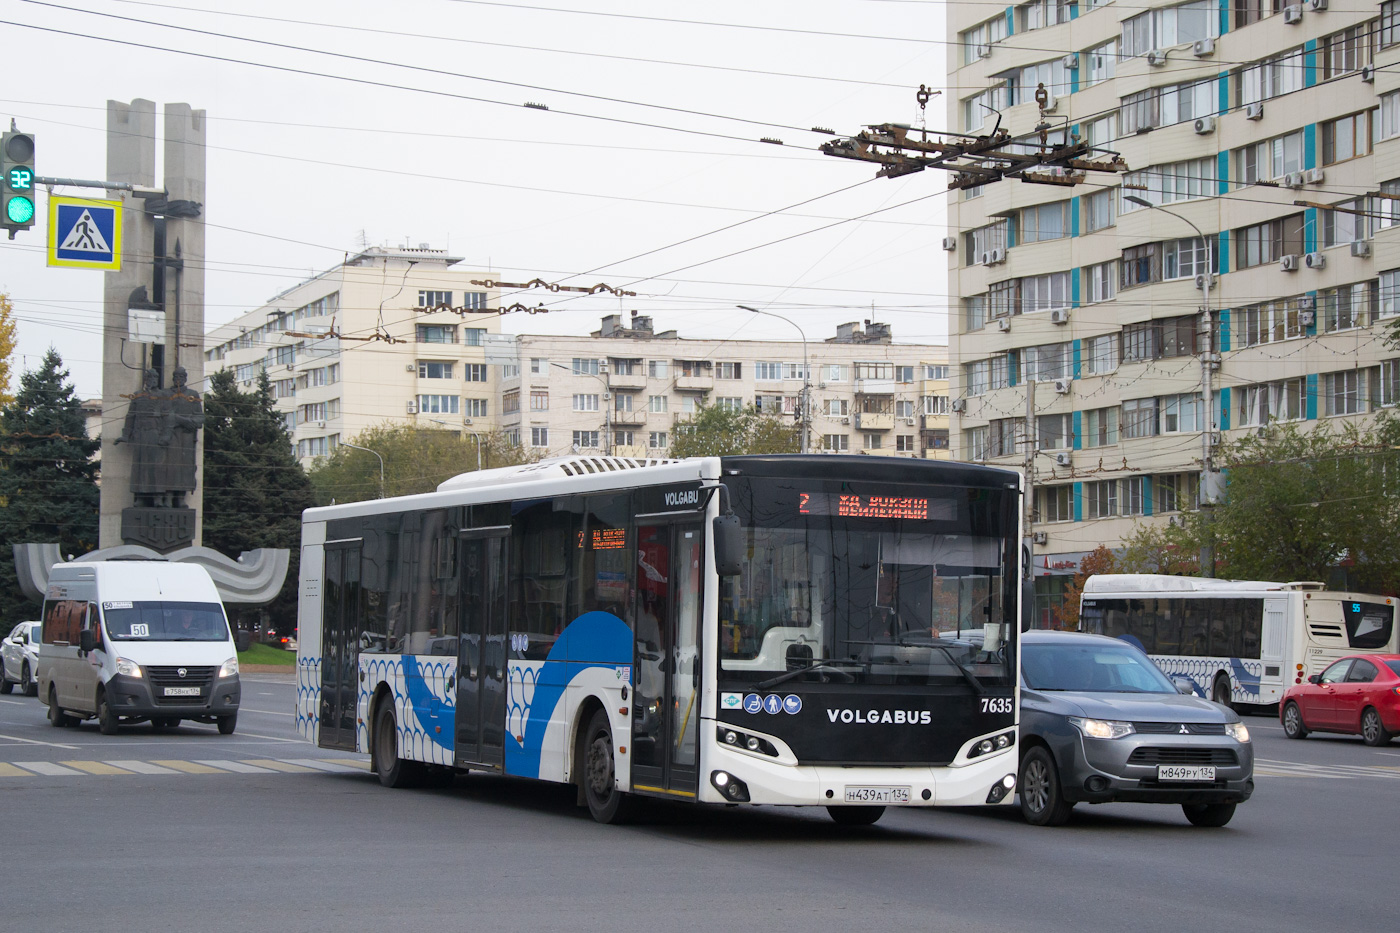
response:
M360 542L326 545L321 594L322 748L356 748L360 696Z

